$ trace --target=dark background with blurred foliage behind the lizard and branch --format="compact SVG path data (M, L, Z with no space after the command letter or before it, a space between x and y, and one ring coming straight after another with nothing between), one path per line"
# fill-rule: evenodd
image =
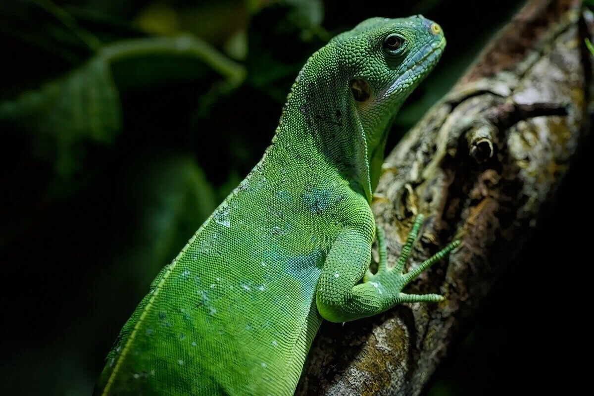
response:
M0 394L91 393L150 281L260 159L329 37L374 16L443 27L445 54L389 150L520 3L1 0ZM162 49L179 34L191 50ZM235 62L228 74L199 40ZM428 395L573 394L583 382L591 170L582 155Z

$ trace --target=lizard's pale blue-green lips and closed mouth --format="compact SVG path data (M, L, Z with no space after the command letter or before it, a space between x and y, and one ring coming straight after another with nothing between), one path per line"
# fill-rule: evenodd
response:
M412 68L403 72L403 74L400 75L386 91L384 91L381 98L387 99L394 93L414 87L416 84L414 82L411 83L411 80L419 83L437 64L437 61L439 61L441 57L441 53L443 53L444 47L445 37L441 37L441 40L438 43L431 42L422 46L417 52L418 54L424 53L424 55L421 56L421 59L416 61ZM419 75L421 75L421 78L419 78Z

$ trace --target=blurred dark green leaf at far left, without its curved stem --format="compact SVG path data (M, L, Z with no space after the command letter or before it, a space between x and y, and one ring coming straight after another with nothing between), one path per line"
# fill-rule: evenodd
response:
M109 65L93 58L37 91L0 103L0 122L31 134L37 156L52 161L58 178L69 178L81 167L84 142L109 144L121 129Z

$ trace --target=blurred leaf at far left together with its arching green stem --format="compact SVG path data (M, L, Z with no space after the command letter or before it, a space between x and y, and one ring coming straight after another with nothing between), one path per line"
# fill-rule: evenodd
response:
M227 81L226 91L245 75L242 66L196 37L116 42L64 77L0 103L0 125L13 134L28 134L36 156L50 161L59 183L68 184L83 169L89 145L112 144L121 132L119 90L206 80L205 68Z

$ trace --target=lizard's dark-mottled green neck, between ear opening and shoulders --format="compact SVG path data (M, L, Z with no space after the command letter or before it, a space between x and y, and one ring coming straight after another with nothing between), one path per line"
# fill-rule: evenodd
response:
M312 156L348 180L371 202L369 153L364 126L332 46L314 53L299 72L283 107L274 145L295 147L287 154Z

